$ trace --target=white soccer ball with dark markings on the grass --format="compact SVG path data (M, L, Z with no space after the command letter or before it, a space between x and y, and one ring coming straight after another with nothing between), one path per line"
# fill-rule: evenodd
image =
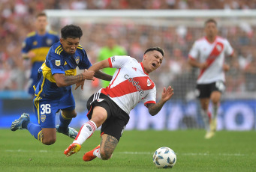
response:
M173 168L176 160L176 154L169 147L160 147L153 155L153 162L158 168Z

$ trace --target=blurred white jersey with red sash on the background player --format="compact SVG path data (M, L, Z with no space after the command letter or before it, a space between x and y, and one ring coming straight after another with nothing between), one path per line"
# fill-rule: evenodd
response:
M233 48L223 37L216 37L213 43L209 43L206 37L195 41L188 58L197 59L200 63L207 62L208 67L200 70L197 84L209 84L216 81L225 81L224 56L232 55Z

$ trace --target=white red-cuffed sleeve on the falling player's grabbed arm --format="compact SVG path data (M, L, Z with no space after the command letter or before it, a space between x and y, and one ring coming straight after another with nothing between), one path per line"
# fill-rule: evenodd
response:
M110 64L110 68L122 68L128 61L131 61L131 57L127 55L115 55L113 57L108 58L108 62Z

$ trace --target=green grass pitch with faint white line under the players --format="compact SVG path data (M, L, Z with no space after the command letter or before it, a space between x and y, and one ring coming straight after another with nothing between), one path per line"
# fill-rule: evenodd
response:
M96 131L79 153L65 157L72 139L57 133L57 141L46 146L26 130L0 129L0 171L256 171L256 133L217 132L206 140L203 130L125 131L112 159L83 162L83 153L100 144ZM152 156L159 147L176 152L171 169L158 169Z

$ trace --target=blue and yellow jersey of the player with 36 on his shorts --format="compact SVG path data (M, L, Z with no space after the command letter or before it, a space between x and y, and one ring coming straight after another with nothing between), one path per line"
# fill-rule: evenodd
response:
M46 61L40 68L42 76L36 87L35 96L59 99L71 90L71 86L58 87L53 75L62 73L65 76L75 76L77 67L84 70L91 66L92 64L82 46L77 47L74 55L68 55L60 42L55 43L50 48Z

